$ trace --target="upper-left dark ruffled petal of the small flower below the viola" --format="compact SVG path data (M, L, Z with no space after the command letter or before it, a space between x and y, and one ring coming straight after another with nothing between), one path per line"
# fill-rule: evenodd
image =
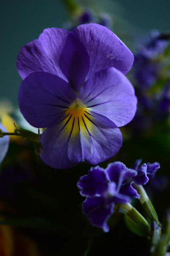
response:
M94 197L102 195L108 189L105 170L100 166L92 167L88 175L84 175L77 182L82 196Z

